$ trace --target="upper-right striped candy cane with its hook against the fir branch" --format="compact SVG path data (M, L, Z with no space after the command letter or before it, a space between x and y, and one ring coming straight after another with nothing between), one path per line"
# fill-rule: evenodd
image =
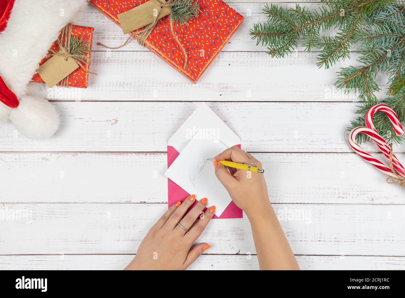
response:
M397 135L402 135L404 133L401 122L399 122L398 116L396 116L396 113L394 112L393 109L388 107L388 105L374 105L371 107L366 114L366 126L373 129L373 131L377 132L375 129L375 126L373 124L373 116L376 112L383 112L388 116L388 119L390 119L390 122L392 124L392 127L394 128L394 131ZM387 159L390 159L390 147L386 144L384 141L383 145L379 145L377 143L377 146L381 149L382 153L385 155ZM405 168L403 165L399 162L398 158L395 155L392 155L392 166L394 169L403 177L405 177Z

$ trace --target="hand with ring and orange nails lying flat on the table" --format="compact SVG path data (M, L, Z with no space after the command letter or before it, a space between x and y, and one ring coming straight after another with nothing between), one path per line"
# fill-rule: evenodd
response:
M183 217L195 197L191 195L183 203L177 202L162 215L125 270L184 270L211 247L208 243L200 243L191 248L215 211L215 206L211 206L202 212L207 206L207 198L203 198Z

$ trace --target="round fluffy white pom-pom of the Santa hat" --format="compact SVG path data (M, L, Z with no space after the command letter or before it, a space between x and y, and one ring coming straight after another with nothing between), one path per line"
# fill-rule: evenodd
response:
M18 107L11 109L10 120L20 133L31 139L45 139L55 133L59 116L49 101L23 95L19 102Z

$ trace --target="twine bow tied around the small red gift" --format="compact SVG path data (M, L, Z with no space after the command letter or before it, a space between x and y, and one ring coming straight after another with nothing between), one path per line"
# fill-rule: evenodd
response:
M72 41L72 23L67 24L61 31L60 31L60 37L56 41L56 45L58 45L58 51L54 51L53 49L50 50L50 53L47 56L61 56L65 57L65 61L67 61L69 58L75 60L77 64L79 64L79 67L83 69L86 73L90 73L92 75L97 75L97 73L92 73L88 71L85 68L85 65L90 65L92 62L88 56L86 56L86 53L78 50L78 47L80 47L83 44L79 44L75 46ZM90 51L90 50L89 50ZM87 67L88 68L88 67ZM68 87L68 76L62 79L60 81L60 85L64 87Z

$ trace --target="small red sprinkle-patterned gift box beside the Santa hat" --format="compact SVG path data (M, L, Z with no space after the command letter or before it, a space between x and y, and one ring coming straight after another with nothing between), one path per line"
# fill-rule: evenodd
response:
M90 27L85 27L85 26L77 26L73 25L72 26L72 36L77 36L79 39L81 38L83 41L88 41L87 47L88 47L88 52L84 52L85 56L87 56L90 59L91 56L91 51L92 51L92 40L93 40L93 31L94 28ZM58 45L53 43L51 49L53 51L58 51ZM48 59L51 57L45 57L41 60L39 65L44 64ZM83 64L83 68L88 71L89 70L89 65L88 64ZM88 78L88 73L85 72L81 67L78 67L68 75L68 85L71 87L79 87L79 88L87 88L87 78ZM40 77L38 73L36 73L31 81L38 82L38 83L45 83L43 79Z

